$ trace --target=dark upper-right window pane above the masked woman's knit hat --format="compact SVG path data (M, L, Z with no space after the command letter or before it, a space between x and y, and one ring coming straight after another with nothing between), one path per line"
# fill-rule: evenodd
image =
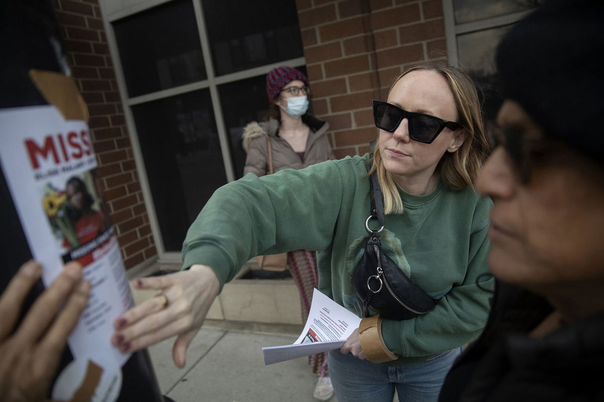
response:
M216 75L302 57L295 0L202 0Z

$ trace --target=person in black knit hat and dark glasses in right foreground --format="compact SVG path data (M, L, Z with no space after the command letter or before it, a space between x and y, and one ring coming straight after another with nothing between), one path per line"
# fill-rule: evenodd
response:
M604 401L603 21L602 1L548 1L497 48L500 129L476 182L493 307L442 402Z

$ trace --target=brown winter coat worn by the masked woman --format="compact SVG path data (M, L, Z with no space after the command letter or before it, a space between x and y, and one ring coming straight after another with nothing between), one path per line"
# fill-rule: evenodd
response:
M243 174L254 173L256 176L268 174L268 153L266 136L271 138L272 164L274 171L293 168L301 169L318 162L334 159L326 132L329 124L309 116L306 125L310 133L306 140L304 160L300 159L289 142L277 136L279 122L275 119L256 123L253 121L243 128L243 149L248 153L245 159Z

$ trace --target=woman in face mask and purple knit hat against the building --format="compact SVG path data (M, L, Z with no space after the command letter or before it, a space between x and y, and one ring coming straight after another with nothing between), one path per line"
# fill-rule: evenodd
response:
M248 153L244 175L269 174L269 158L274 172L333 159L327 138L329 124L307 113L310 88L301 71L287 66L272 69L266 75L266 93L271 103L269 120L254 121L243 129L243 148ZM302 321L306 322L313 289L318 287L315 252L304 249L288 252L288 268L300 292ZM327 371L327 354L310 356L309 364L319 377L313 396L316 400L329 400L333 387Z

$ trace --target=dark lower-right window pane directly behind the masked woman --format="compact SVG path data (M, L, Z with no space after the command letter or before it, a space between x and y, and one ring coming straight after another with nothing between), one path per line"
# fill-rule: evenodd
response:
M306 67L295 66L306 75ZM228 132L231 158L237 178L243 175L246 153L242 147L243 127L251 121L265 121L268 116L266 75L223 84L218 87L222 114ZM312 111L309 110L312 113Z

